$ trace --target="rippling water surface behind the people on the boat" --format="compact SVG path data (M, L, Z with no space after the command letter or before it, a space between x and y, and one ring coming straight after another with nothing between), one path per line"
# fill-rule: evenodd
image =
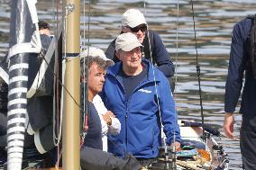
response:
M0 58L8 47L10 6L0 0ZM179 119L200 121L200 103L197 82L197 58L201 69L201 89L205 121L222 130L224 121L224 85L233 24L248 14L255 13L254 0L200 0L193 1L197 32L195 48L191 2L188 0L100 0L91 1L88 34L88 1L81 1L81 46L90 45L106 49L120 32L121 15L128 8L139 8L145 13L151 30L160 34L176 67L174 93ZM84 7L84 4L86 6ZM50 22L60 19L61 4L38 2L39 18ZM53 16L57 13L59 15ZM55 10L53 10L55 8ZM178 23L178 24L177 24ZM178 28L178 29L177 29ZM89 36L88 36L89 35ZM178 35L178 39L177 39ZM178 49L177 49L178 47ZM238 112L238 109L237 109ZM239 135L241 115L235 115L235 135ZM231 169L242 169L239 141L218 139L229 155Z

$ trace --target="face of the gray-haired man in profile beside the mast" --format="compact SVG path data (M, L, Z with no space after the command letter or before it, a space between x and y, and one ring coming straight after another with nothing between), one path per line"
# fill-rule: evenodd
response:
M105 69L93 63L88 73L88 91L96 95L102 91L105 83Z

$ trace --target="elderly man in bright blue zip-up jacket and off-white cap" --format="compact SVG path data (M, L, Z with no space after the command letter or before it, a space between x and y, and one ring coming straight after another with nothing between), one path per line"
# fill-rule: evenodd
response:
M107 70L102 97L121 122L120 134L109 137L108 151L119 157L131 153L144 166L159 154L161 124L168 145L179 148L180 133L169 82L142 60L141 48L131 32L117 37L116 57L121 61Z

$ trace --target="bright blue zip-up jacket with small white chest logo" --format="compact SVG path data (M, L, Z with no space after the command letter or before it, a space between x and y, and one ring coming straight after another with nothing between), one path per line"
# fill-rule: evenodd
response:
M119 157L127 153L142 158L158 156L158 147L161 145L159 115L167 143L172 142L174 132L176 140L180 141L177 113L169 82L148 60L144 59L142 62L148 65L148 76L134 89L129 99L125 96L123 79L118 75L122 69L121 62L110 67L105 77L103 101L106 108L114 112L121 122L120 134L109 137L108 151Z

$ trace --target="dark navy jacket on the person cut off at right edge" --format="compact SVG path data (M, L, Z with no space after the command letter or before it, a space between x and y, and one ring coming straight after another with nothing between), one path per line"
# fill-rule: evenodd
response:
M245 18L233 27L228 76L225 85L224 111L234 112L242 90L242 78L245 71L240 109L243 120L251 120L256 116L256 79L252 76L247 41L251 31L251 21L251 19ZM254 124L256 126L256 122Z

